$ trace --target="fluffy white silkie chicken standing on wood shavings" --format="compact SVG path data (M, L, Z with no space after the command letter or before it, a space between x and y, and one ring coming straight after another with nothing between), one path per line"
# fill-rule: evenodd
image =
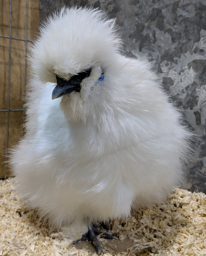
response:
M87 233L98 253L92 225L164 199L190 138L149 64L120 47L104 12L50 17L31 49L27 133L11 156L27 203L52 229L66 226L74 240Z

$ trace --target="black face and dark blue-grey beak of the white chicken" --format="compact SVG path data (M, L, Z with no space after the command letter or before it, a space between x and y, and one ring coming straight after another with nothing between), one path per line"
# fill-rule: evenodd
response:
M65 80L56 75L57 85L52 92L52 99L56 99L70 92L80 92L81 82L84 78L90 76L92 68L87 69L77 75L72 76L69 80Z

